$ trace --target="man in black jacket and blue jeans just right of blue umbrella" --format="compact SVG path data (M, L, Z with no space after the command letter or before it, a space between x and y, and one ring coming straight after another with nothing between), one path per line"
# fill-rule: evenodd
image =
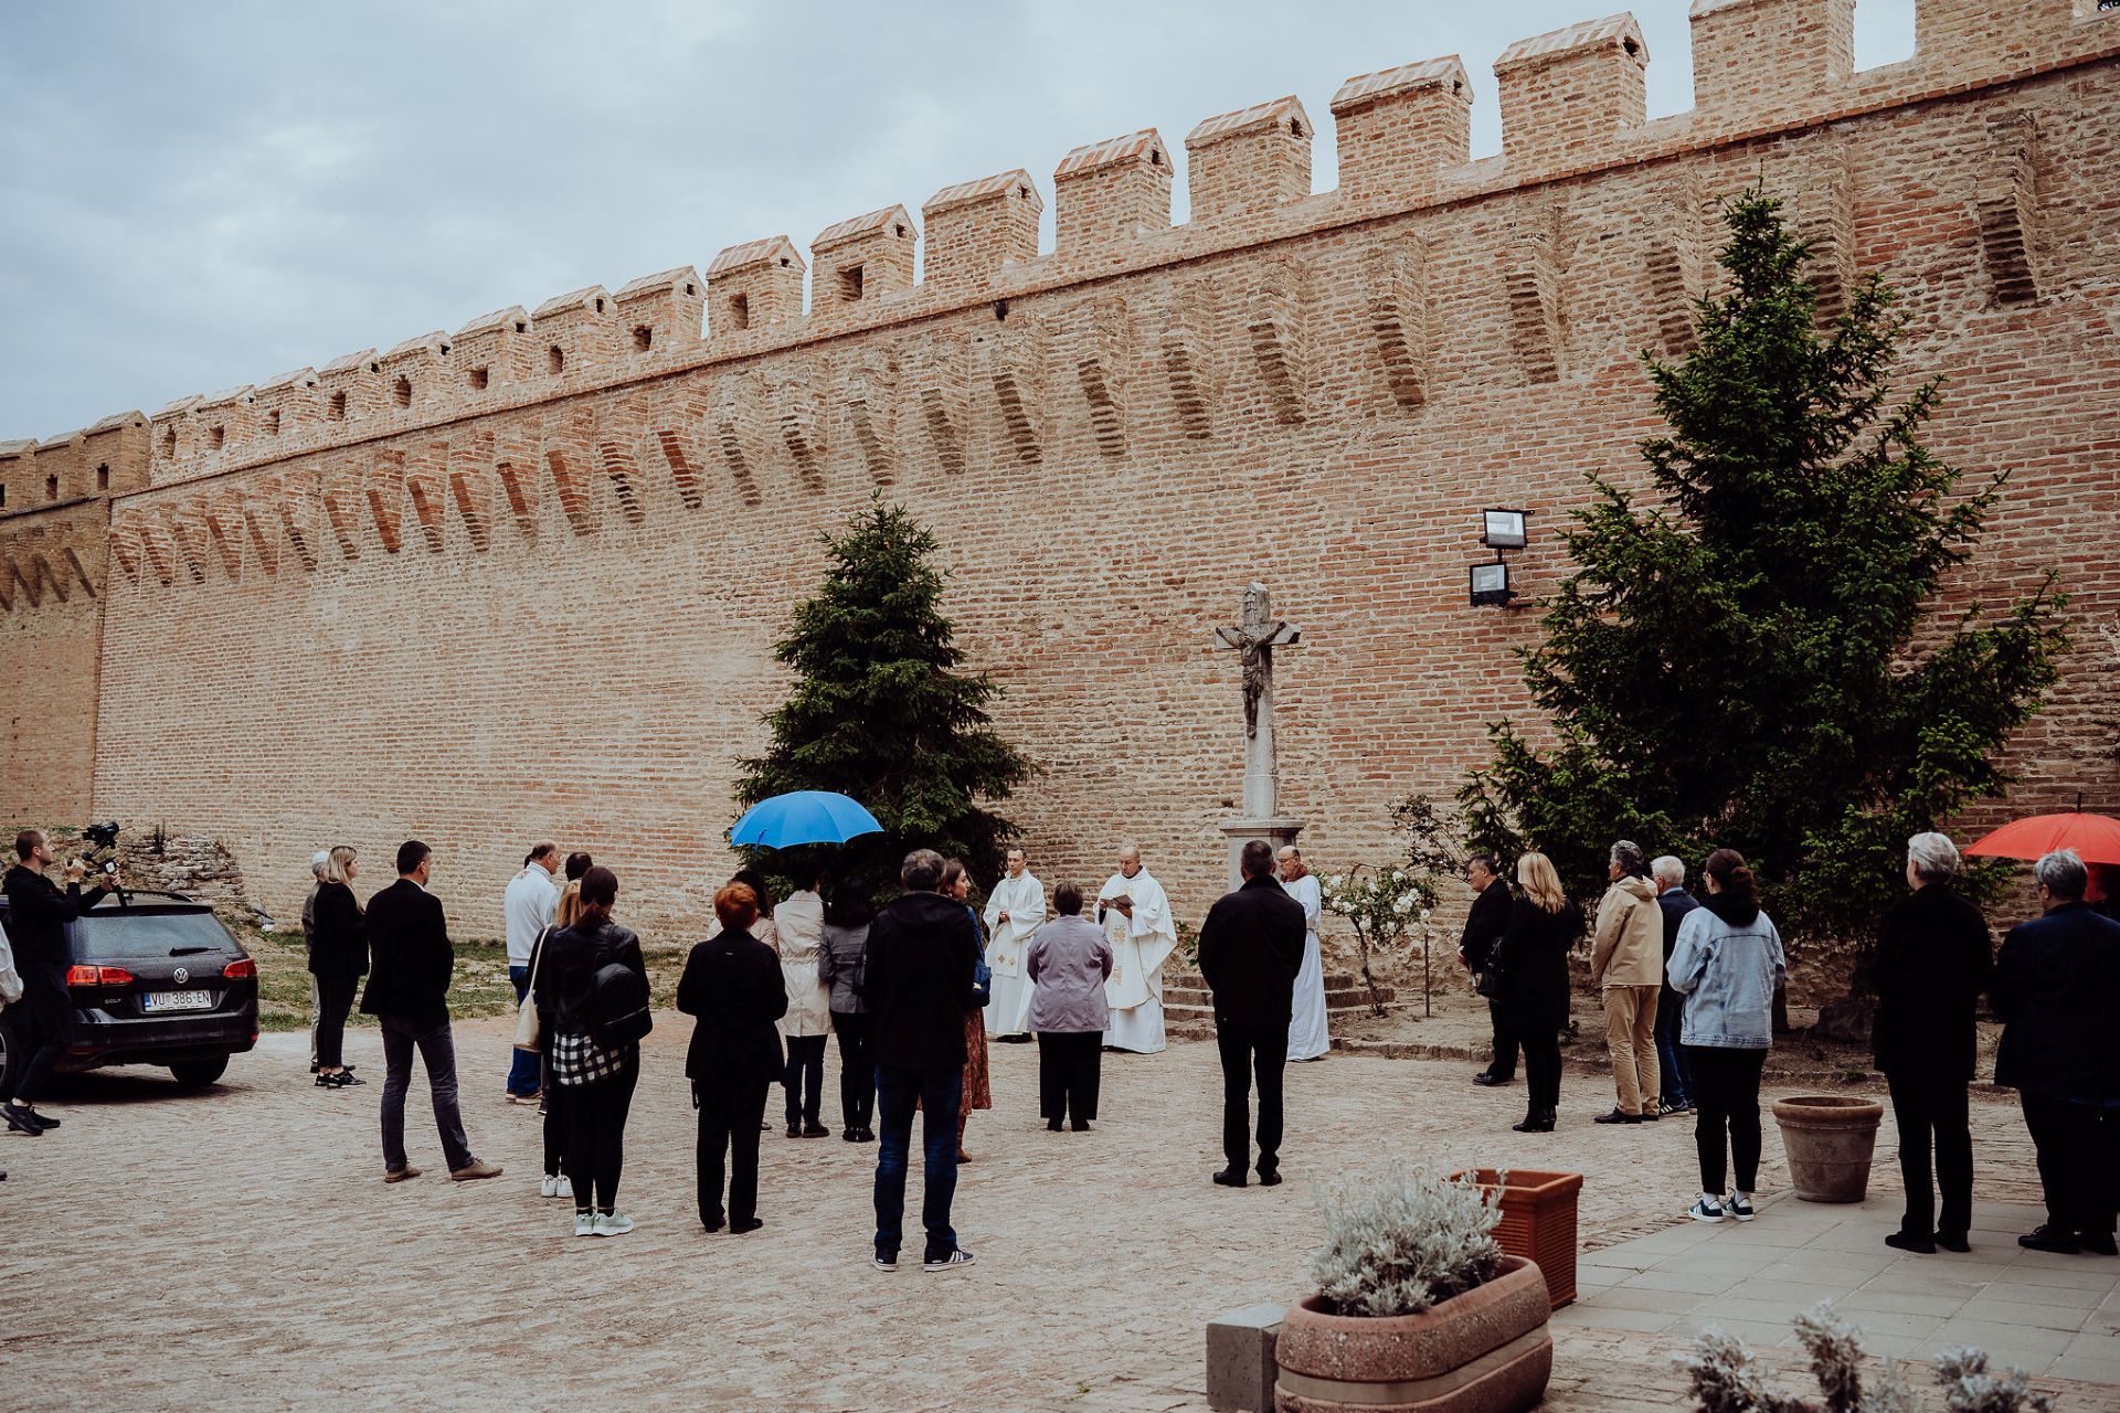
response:
M937 894L941 854L914 849L899 869L905 894L869 924L863 1000L876 1051L876 1267L899 1269L905 1159L920 1102L926 1227L924 1271L971 1265L956 1244L956 1110L965 1097L965 1013L973 1006L979 928L971 909Z

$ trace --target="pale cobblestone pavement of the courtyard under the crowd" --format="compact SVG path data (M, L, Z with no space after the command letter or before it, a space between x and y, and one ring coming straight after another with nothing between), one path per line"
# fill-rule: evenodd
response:
M1586 1248L1675 1227L1692 1197L1690 1123L1594 1127L1611 1102L1594 1076L1567 1078L1560 1131L1520 1135L1522 1087L1476 1089L1463 1063L1293 1066L1289 1182L1225 1191L1206 1180L1213 1044L1107 1055L1092 1133L1047 1133L1035 1049L996 1044L996 1106L971 1123L956 1201L979 1263L886 1275L867 1265L873 1148L837 1138L767 1135L767 1227L700 1231L687 1034L668 1015L647 1044L621 1191L640 1227L623 1239L575 1239L568 1203L536 1197L538 1121L502 1102L505 1021L458 1027L473 1146L507 1163L494 1182L447 1182L418 1076L407 1133L426 1176L382 1182L373 1034L350 1038L375 1080L352 1091L310 1085L299 1034L199 1095L159 1072L70 1080L61 1131L0 1142L0 1407L1191 1413L1204 1324L1302 1294L1319 1178L1384 1155L1584 1171ZM1976 1144L1984 1201L2033 1197L2014 1106L1976 1104ZM1872 1201L1895 1188L1889 1155L1887 1121ZM1762 1191L1781 1184L1768 1133ZM1552 1409L1681 1402L1666 1356L1683 1330L1556 1341ZM2114 1407L2112 1388L2054 1388L2065 1409Z

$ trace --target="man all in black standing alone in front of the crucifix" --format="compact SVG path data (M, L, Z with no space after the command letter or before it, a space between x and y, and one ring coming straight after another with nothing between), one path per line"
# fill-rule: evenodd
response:
M1259 1080L1259 1184L1280 1182L1280 1078L1289 1061L1289 1010L1304 964L1304 907L1274 879L1274 849L1244 845L1244 883L1200 924L1200 977L1215 994L1221 1049L1221 1150L1215 1182L1244 1186L1251 1152L1251 1080Z

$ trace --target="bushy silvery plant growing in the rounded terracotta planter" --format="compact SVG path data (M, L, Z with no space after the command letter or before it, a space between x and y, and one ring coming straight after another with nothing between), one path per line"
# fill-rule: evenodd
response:
M1325 1246L1310 1277L1333 1313L1418 1316L1501 1269L1499 1188L1393 1159L1319 1193Z

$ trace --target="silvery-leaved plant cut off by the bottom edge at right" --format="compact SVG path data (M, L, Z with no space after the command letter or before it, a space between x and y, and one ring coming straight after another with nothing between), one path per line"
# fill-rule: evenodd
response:
M1692 1375L1700 1413L1919 1413L1921 1398L1891 1360L1874 1383L1861 1377L1861 1332L1819 1301L1796 1318L1796 1337L1810 1356L1810 1373L1823 1398L1813 1402L1779 1394L1766 1385L1751 1352L1713 1324L1694 1347L1677 1356ZM2048 1413L2046 1394L2031 1392L2022 1369L1989 1373L1980 1349L1944 1349L1936 1360L1936 1381L1950 1413Z

